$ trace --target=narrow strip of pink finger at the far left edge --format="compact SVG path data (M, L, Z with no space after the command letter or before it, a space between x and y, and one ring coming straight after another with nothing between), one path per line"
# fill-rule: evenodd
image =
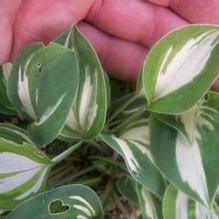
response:
M13 40L13 23L21 0L0 0L0 64L10 58Z

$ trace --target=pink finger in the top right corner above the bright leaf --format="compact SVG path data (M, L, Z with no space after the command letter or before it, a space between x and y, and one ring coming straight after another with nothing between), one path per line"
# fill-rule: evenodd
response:
M219 24L218 0L152 0L168 4L179 15L192 23Z

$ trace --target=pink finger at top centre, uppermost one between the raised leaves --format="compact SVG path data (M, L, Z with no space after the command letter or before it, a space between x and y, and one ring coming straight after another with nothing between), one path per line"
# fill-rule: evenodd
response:
M142 0L96 1L87 21L116 37L146 46L187 23L167 8Z

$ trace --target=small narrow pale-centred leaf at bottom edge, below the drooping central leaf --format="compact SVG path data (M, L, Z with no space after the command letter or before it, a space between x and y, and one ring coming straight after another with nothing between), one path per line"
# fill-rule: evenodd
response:
M143 219L162 219L161 203L143 186L136 185Z

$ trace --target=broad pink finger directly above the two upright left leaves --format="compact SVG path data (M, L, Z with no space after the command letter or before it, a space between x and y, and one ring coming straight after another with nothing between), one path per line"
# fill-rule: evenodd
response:
M29 0L23 1L14 29L12 57L26 45L49 42L70 25L82 20L94 0Z

